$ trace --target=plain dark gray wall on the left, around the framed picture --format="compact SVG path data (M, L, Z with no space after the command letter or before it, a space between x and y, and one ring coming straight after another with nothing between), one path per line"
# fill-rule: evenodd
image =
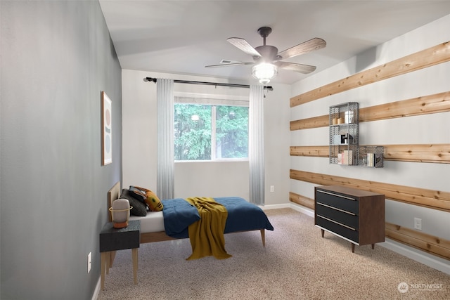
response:
M122 174L120 63L98 1L2 0L0 10L0 298L91 299L106 193ZM113 101L107 166L101 91Z

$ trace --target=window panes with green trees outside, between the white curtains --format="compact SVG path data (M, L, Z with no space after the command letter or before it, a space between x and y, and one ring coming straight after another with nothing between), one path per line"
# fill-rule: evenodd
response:
M248 107L175 103L175 160L248 157Z

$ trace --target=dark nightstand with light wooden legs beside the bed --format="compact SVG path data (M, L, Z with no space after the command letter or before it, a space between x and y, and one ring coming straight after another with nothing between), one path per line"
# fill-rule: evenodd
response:
M129 221L125 228L114 228L106 223L100 233L101 289L105 287L105 273L109 273L111 255L117 250L131 249L134 285L137 284L138 248L141 243L141 221Z

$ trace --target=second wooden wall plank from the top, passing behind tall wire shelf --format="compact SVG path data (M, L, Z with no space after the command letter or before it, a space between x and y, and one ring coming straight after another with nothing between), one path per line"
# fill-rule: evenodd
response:
M394 119L450 112L450 91L421 96L359 109L359 122ZM290 122L290 130L312 129L330 125L330 117L322 115Z

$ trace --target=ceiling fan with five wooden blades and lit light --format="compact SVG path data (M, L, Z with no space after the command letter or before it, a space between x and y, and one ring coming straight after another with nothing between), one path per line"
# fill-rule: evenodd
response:
M226 39L230 44L236 46L240 50L253 57L252 62L246 63L221 63L219 65L207 65L205 67L230 67L236 65L255 65L252 68L253 77L259 79L262 84L268 84L270 79L277 74L277 67L285 70L300 72L302 74L309 74L316 70L314 65L302 65L299 63L288 63L282 60L299 56L300 54L308 53L326 46L326 41L319 38L304 41L302 44L293 46L285 51L278 52L275 46L266 45L266 37L272 32L271 27L261 27L258 29L259 35L263 38L264 44L253 48L248 41L240 37L230 37Z

